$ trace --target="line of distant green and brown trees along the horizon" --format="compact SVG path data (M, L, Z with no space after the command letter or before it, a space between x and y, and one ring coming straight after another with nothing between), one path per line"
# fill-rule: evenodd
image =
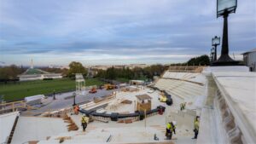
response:
M123 68L114 68L110 67L107 70L99 70L94 69L96 78L105 78L105 79L152 79L154 76L160 76L160 74L168 69L169 66L208 66L210 65L210 59L207 55L201 55L199 57L195 57L190 59L184 63L176 63L172 65L152 65L144 68L135 67L133 69L129 69L127 67ZM88 70L80 63L76 61L72 61L69 64L69 69L61 69L61 68L49 68L42 67L39 68L45 72L54 72L61 73L63 77L74 78L75 73L82 73L84 78L87 76ZM18 79L18 75L26 72L26 68L22 66L3 66L0 67L0 82L14 82Z

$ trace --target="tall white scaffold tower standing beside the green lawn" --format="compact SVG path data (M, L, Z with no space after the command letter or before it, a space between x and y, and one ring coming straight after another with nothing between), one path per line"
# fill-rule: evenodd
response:
M76 73L76 95L84 95L85 80L81 73Z

